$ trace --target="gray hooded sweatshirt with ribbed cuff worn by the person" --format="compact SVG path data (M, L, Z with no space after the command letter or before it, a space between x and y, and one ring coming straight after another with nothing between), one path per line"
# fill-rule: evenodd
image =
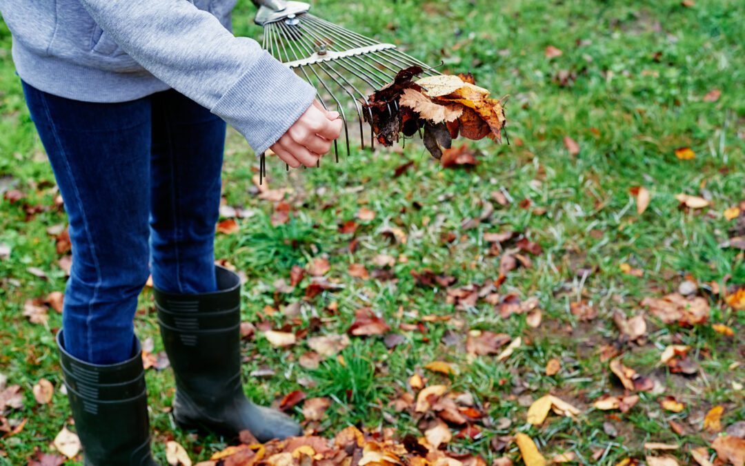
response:
M230 32L237 0L0 0L22 80L60 97L121 102L176 89L259 154L315 89Z

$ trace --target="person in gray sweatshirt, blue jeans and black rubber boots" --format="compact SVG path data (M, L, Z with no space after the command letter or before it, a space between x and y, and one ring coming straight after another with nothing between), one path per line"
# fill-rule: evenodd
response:
M215 266L226 123L315 166L342 127L316 91L235 37L236 0L0 0L31 119L69 216L60 365L86 465L154 465L133 331L150 274L186 429L299 433L241 385L240 281Z

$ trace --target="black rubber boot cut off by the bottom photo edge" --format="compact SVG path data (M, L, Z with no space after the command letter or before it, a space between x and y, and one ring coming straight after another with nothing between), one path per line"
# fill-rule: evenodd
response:
M142 353L112 365L83 362L65 350L57 333L60 363L75 431L86 466L156 466L150 454L148 394Z

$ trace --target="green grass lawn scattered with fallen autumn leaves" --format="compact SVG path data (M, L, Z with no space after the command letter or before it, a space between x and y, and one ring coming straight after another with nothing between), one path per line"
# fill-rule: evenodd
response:
M503 456L522 464L511 440L518 432L547 459L571 453L574 464L662 454L693 464L690 451L719 435L715 427L703 429L712 407L723 406L722 432L745 421L745 297L727 300L745 286L745 259L741 249L722 245L745 236L745 212L738 217L731 209L745 211L745 4L688 3L315 1L317 15L395 42L427 63L444 60L447 72L472 72L494 95L509 95L511 144L469 142L480 153L470 169L443 169L420 142L409 141L403 149L355 150L338 165L289 175L268 160L269 182L259 195L258 163L231 131L224 198L244 218L237 218L237 232L218 234L217 254L247 277L242 312L256 326L243 346L247 393L261 403L296 390L328 398L319 421L305 420L302 403L289 409L319 435L351 424L422 435L437 415L407 405L418 374L422 385L466 394L459 403L472 397L484 414L468 423L478 432L455 435L464 426L451 424L453 439L443 447L487 464ZM238 34L260 37L253 13L249 1L239 3ZM549 46L562 54L547 57ZM53 453L55 435L71 425L54 346L61 316L48 309L48 320L33 324L22 315L32 300L63 292L60 259L64 264L69 253L57 253L66 216L55 203L54 177L25 109L4 24L0 104L0 385L19 384L23 395L21 408L0 412L6 430L19 430L0 430L0 465L21 465L37 449ZM578 154L570 154L565 137L577 142ZM679 148L695 157L677 157ZM651 196L641 214L632 194L638 186ZM279 189L287 189L286 206L276 201ZM703 198L706 207L682 207L682 193ZM273 226L286 207L289 221ZM347 221L357 224L354 232L341 228ZM501 232L520 236L500 243L489 235ZM516 243L523 236L541 251ZM504 271L520 245L524 262L500 280L500 264ZM323 265L319 259L328 260L325 280L334 286L310 286L314 279L305 274L287 288L293 265ZM360 266L350 274L351 264L364 266L367 276ZM428 286L425 269L444 283ZM481 296L473 296L479 289ZM665 323L641 304L679 289L703 300L706 322ZM541 310L537 326L533 306ZM319 363L309 339L346 334L364 307L390 331L350 335L341 357ZM633 339L614 314L642 315L646 330ZM276 347L264 336L270 329L298 333L298 341ZM154 353L162 350L150 289L136 330L143 341L152 339ZM507 344L484 350L484 332L522 344L500 357ZM691 374L661 362L671 344L690 347L683 360ZM627 390L639 396L627 412L594 406L605 395L624 394L609 368L615 355L650 388ZM552 359L559 368L547 375ZM446 362L451 374L425 368L434 361ZM54 386L51 403L34 398L41 378ZM169 440L194 462L228 445L175 428L170 369L148 369L147 381L159 462ZM551 414L529 424L527 407L549 393L580 415ZM683 403L682 411L663 409L665 396ZM679 448L656 452L647 442Z

